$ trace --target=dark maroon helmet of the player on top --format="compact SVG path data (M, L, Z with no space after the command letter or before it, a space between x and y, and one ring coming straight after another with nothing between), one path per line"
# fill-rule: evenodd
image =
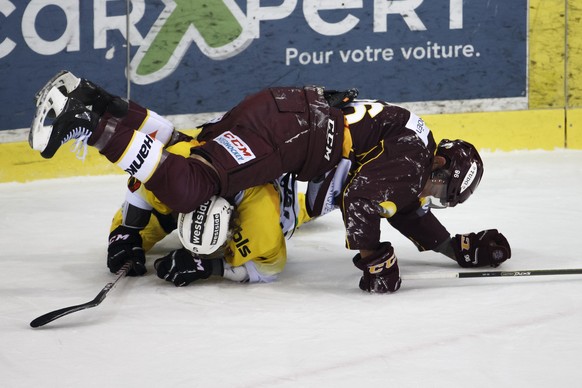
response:
M464 140L443 139L437 146L436 156L446 159L443 168L432 172L431 179L447 181L442 201L454 207L475 192L483 176L483 161L477 149Z

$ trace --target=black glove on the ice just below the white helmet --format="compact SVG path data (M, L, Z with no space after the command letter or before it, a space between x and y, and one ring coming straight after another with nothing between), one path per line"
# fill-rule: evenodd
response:
M160 279L174 283L176 287L183 287L198 279L208 279L212 274L212 261L202 260L182 248L157 259L154 268Z

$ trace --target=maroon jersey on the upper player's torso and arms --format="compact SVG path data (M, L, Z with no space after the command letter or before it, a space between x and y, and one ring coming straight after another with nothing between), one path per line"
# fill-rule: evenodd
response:
M414 225L426 214L421 212L419 194L429 178L436 148L431 131L414 113L382 101L356 100L343 110L354 153L338 198L346 246L376 249L383 217L407 236L416 235ZM427 241L448 237L436 223L441 228L434 238L427 236Z

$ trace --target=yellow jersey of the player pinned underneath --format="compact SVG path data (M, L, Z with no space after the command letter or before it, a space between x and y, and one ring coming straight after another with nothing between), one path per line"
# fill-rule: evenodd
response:
M180 142L167 148L168 152L188 156L190 149L198 146L196 140ZM294 182L281 178L276 182L253 187L240 192L234 199L234 228L222 254L225 278L236 281L269 282L285 267L287 249L285 238L296 227L309 219L305 210L305 197L295 195ZM130 178L126 203L170 216L172 209L162 203L144 185ZM289 200L289 193L293 197ZM123 223L122 206L113 218L111 230ZM149 251L161 241L169 230L162 226L159 217L150 217L140 231L144 250ZM214 256L214 255L213 255ZM237 275L237 267L245 267L247 278Z

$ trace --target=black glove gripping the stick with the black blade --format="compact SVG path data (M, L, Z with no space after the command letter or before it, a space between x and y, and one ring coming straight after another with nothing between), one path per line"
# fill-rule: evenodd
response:
M116 273L128 261L133 262L128 276L142 276L146 273L145 253L139 229L119 225L109 234L107 267Z

